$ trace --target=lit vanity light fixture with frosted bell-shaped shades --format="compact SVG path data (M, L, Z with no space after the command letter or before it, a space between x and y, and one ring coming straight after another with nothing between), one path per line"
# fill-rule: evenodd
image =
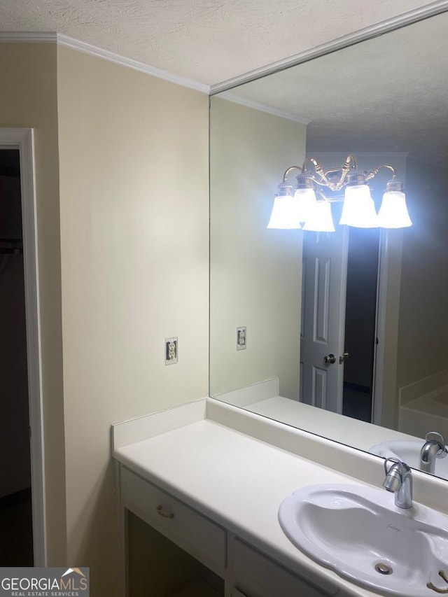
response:
M309 169L310 164L312 170ZM367 183L384 168L392 171L392 178L386 184L386 192L377 214ZM288 183L288 176L293 170L300 170L295 190ZM339 224L356 228L411 226L402 187L395 168L389 164L363 171L358 169L356 157L350 154L342 166L325 170L316 158L307 157L302 167L291 166L283 174L267 227L301 228L303 225L303 230L334 232L332 202L344 202ZM344 189L344 197L327 197L323 188L332 192Z

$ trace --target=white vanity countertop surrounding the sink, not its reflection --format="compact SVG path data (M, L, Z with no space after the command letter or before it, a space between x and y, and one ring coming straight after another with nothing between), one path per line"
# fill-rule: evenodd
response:
M277 519L279 505L295 489L362 482L207 419L205 410L198 419L146 440L116 444L113 456L323 589L377 595L311 561L288 540Z

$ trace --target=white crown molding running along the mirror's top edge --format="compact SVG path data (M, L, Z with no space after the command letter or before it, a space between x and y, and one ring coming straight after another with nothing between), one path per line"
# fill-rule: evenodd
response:
M360 43L360 41L365 41L372 37L383 35L389 31L400 29L401 27L406 27L407 25L427 19L428 17L434 17L440 13L447 12L447 10L448 0L437 0L435 2L431 2L426 6L409 10L407 13L402 13L396 17L392 17L390 19L380 21L377 24L370 25L370 27L365 27L364 29L353 31L353 33L337 37L336 39L328 41L327 43L316 45L316 47L311 48L311 50L305 50L304 52L284 58L278 62L272 62L272 64L262 66L260 69L255 69L243 75L225 80L222 83L211 85L210 94L214 95L216 93L221 93L223 91L232 89L232 87L237 87L237 85L250 83L255 79L272 75L273 73L279 71L284 71L285 69L290 68L290 66L297 66L297 64L309 62L309 60L314 58L318 58L325 54L330 54L331 52L335 52L337 50L342 50L343 48L348 48L350 45Z

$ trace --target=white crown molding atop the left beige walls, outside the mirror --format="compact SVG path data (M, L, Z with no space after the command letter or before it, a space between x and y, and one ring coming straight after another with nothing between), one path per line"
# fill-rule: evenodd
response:
M196 80L181 77L162 69L156 69L155 66L149 66L143 62L116 54L115 52L97 48L96 45L91 45L85 41L80 41L60 33L46 31L0 31L0 43L57 43L57 45L64 45L66 48L78 50L78 52L97 56L98 58L109 60L109 62L126 66L128 69L140 71L141 73L167 80L170 83L176 83L176 85L181 85L181 87L188 87L207 94L210 92L210 86L204 83L199 83Z

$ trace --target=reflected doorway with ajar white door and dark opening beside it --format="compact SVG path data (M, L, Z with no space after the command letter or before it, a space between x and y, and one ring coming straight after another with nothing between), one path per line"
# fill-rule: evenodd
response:
M336 232L304 232L300 402L372 423L381 230L334 207Z

